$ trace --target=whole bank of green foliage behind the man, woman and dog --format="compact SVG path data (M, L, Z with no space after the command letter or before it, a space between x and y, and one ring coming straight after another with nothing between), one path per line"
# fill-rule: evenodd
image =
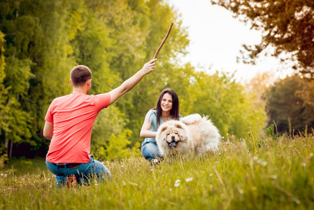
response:
M264 125L262 106L255 108L232 76L197 72L179 65L189 39L176 11L162 0L1 1L0 142L6 153L45 155L45 113L55 97L71 93L69 72L76 64L92 70L90 94L113 90L155 54L174 22L156 71L131 92L99 113L91 150L113 160L139 154L145 114L166 87L178 93L180 112L210 115L221 133L241 136L255 116ZM2 37L2 39L1 39ZM2 55L2 54L1 54ZM20 148L18 148L20 146ZM3 149L4 149L3 148Z

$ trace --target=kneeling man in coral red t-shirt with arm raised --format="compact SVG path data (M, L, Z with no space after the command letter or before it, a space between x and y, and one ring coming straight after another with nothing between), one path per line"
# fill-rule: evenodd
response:
M73 93L52 101L45 116L43 136L50 139L46 165L55 174L57 186L66 183L69 176L78 182L89 181L91 176L111 177L109 170L90 155L92 127L101 109L113 104L129 92L146 74L155 69L155 61L144 64L131 78L108 93L90 95L92 72L87 66L75 66L71 71L70 83Z

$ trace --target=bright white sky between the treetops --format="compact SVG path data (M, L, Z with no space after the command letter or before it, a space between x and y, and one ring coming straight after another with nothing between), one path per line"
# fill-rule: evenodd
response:
M256 65L237 63L243 44L254 45L262 40L261 32L232 18L229 10L211 5L209 0L167 0L181 14L188 27L190 46L185 62L204 66L210 71L234 72L238 81L250 80L257 73L272 71L284 78L292 70L284 70L279 59L261 57ZM176 25L173 25L176 27ZM171 35L170 35L171 36ZM281 69L281 70L280 70Z

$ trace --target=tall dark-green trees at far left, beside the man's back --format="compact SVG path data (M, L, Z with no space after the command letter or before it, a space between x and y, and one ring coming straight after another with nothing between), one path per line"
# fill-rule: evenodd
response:
M77 26L66 21L76 18L76 2L0 2L0 29L6 40L3 85L12 103L6 112L9 130L1 135L15 145L25 143L24 151L45 144L41 131L48 104L69 93L69 69L75 64L69 40Z

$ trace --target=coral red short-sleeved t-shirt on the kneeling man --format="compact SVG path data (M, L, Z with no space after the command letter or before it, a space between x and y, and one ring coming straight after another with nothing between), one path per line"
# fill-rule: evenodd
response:
M46 160L52 163L90 162L94 121L110 104L110 94L72 93L52 101L45 120L53 123Z

